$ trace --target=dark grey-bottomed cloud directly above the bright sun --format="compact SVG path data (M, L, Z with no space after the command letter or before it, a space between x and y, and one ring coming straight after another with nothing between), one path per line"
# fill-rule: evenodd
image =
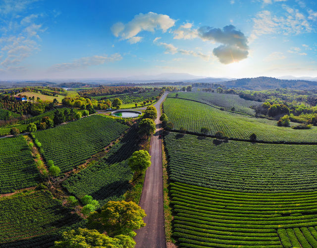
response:
M246 59L249 55L247 38L233 25L225 26L223 29L201 27L198 29L198 35L205 41L222 44L212 51L221 63L238 62Z

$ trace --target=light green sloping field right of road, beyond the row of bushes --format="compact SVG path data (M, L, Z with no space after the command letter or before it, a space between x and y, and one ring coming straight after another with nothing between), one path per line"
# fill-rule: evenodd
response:
M247 140L255 133L258 140L268 142L317 142L315 126L305 130L281 127L276 121L228 113L206 104L176 98L166 98L163 109L176 130L183 126L188 131L200 133L200 129L207 126L211 129L209 134L223 131L233 139Z

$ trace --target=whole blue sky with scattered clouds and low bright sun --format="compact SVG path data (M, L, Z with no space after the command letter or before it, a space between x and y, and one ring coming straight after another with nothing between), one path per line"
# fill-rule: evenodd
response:
M317 77L316 0L0 0L0 80Z

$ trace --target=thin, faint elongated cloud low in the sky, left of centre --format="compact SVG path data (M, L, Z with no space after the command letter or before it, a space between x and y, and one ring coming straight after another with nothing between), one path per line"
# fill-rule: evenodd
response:
M113 54L109 57L106 55L104 56L95 55L95 56L80 58L69 63L55 64L50 68L50 71L65 71L65 70L71 70L76 68L85 68L88 66L99 65L99 64L104 64L106 62L114 62L114 61L120 61L120 60L122 60L122 56L120 54Z

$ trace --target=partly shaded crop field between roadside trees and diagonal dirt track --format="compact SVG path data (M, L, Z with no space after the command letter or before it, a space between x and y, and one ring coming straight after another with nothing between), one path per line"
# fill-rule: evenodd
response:
M77 198L90 194L101 205L109 200L122 200L133 176L125 160L138 149L137 138L137 131L131 128L105 158L71 176L63 186Z

